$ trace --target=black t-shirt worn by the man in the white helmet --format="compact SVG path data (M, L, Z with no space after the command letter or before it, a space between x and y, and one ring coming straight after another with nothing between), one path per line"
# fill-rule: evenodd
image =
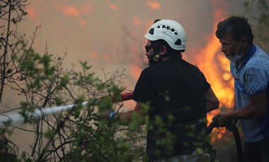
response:
M208 89L202 72L182 59L156 63L142 71L133 95L135 101L149 103L149 158L188 154L205 142Z

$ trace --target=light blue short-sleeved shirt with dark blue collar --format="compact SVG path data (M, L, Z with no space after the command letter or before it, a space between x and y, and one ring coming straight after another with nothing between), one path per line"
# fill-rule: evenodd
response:
M257 142L269 135L269 56L253 45L239 67L230 64L234 76L237 109L249 104L249 96L266 93L266 115L262 120L239 120L246 142Z

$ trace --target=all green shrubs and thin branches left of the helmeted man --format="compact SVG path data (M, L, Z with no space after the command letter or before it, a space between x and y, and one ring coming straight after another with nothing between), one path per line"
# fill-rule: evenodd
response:
M52 56L47 49L39 54L33 49L25 35L16 31L16 24L27 15L27 1L6 0L0 2L1 13L1 93L9 87L23 96L19 110L25 123L35 125L34 143L30 154L18 155L18 147L7 135L13 132L13 125L7 122L0 135L1 161L139 161L144 158L144 127L130 123L122 127L114 123L107 127L103 111L113 111L123 106L113 103L125 90L124 71L104 73L100 80L91 72L87 62L80 62L81 71L73 66L64 70L64 57ZM112 97L113 96L113 97ZM98 100L102 97L101 100ZM84 101L88 104L83 105ZM74 104L69 111L53 116L41 113L46 107ZM14 110L11 110L15 111ZM138 118L138 117L135 117ZM20 129L19 127L17 127ZM21 128L22 129L22 128Z

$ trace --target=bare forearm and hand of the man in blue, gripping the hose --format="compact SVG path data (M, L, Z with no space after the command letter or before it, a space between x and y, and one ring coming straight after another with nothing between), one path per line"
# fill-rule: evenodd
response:
M232 119L262 119L266 114L266 93L249 97L249 105L236 111L219 113L216 117L223 126Z

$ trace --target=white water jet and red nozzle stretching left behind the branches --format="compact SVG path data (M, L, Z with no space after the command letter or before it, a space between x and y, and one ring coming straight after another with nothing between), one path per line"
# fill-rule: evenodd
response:
M120 94L120 99L113 97L113 102L119 102L119 101L127 101L132 99L132 92L126 92ZM101 99L93 99L93 103L91 104L96 104L98 101L102 100ZM88 101L84 101L81 103L82 106L87 106ZM76 107L76 104L70 104L67 106L55 106L55 107L50 107L50 108L41 108L39 110L34 111L33 113L29 113L28 116L31 118L38 118L40 116L48 116L54 113L59 113L62 111L68 111L71 110L72 108ZM5 128L6 125L4 123L7 123L8 121L11 122L11 125L15 125L18 123L23 123L24 118L21 116L20 113L15 112L15 113L0 113L0 129Z

